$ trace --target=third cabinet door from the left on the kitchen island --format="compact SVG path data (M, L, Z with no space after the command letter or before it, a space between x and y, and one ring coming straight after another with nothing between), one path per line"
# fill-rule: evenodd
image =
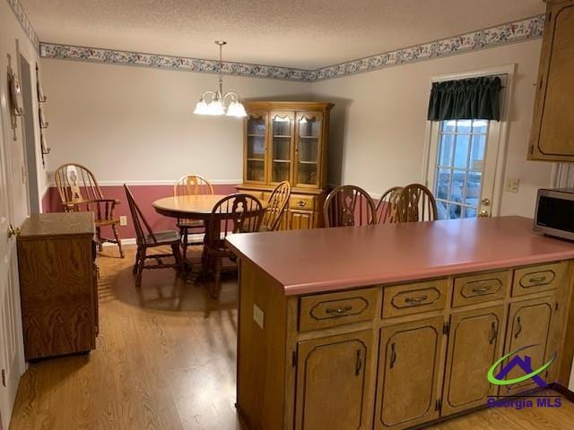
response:
M468 311L450 317L442 415L485 405L498 386L486 375L501 357L504 306Z

